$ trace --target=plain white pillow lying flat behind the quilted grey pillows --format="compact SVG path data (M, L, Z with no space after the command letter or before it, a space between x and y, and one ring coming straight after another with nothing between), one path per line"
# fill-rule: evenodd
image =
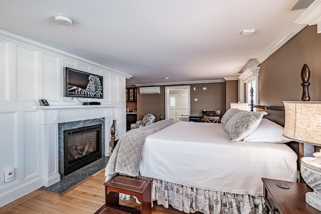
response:
M286 143L291 140L284 137L284 128L273 121L263 118L259 126L244 141L248 142L268 142L268 143Z

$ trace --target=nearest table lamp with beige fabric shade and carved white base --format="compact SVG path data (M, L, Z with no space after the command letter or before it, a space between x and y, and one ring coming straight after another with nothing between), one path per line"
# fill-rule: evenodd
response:
M304 88L303 88L304 89ZM301 143L321 145L321 102L283 101L285 126L283 136ZM301 158L301 175L314 190L305 201L321 211L321 151L314 157Z

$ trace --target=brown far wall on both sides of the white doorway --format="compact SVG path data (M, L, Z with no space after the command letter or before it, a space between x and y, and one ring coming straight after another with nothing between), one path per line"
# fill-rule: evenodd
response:
M161 86L161 94L139 94L137 93L137 120L144 114L152 113L157 116L162 114L165 119L165 87ZM196 88L194 91L193 88ZM201 87L208 87L203 91ZM201 115L203 109L208 111L221 110L225 112L225 83L190 84L191 88L191 115ZM138 91L139 92L139 88ZM198 101L194 101L197 98Z

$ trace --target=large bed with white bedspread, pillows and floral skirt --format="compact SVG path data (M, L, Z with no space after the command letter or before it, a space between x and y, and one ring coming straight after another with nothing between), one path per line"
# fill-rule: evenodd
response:
M265 111L251 112L259 119L250 134L235 135L238 127L225 127L234 111L222 123L163 120L127 132L105 168L106 180L114 173L150 178L152 201L186 213L264 213L261 178L295 181L297 154L284 144L282 126L262 119ZM246 121L240 116L235 123Z

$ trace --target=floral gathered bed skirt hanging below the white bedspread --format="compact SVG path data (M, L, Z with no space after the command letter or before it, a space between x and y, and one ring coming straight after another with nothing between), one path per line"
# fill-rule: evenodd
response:
M152 179L151 199L165 208L171 204L175 209L186 213L265 213L263 196L203 190L158 179Z

